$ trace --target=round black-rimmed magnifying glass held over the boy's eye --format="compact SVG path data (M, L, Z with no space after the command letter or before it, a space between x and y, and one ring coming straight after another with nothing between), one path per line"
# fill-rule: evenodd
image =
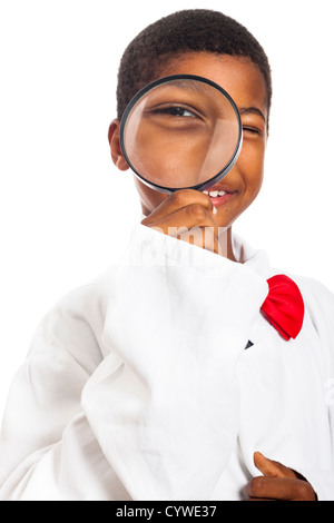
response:
M235 165L243 141L238 109L217 83L194 75L160 78L128 103L120 147L148 187L205 190Z

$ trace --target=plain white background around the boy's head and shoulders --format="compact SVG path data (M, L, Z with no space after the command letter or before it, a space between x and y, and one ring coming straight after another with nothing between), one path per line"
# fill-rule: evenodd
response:
M107 141L118 63L148 23L186 8L236 18L272 63L266 178L235 230L334 290L331 0L0 0L0 414L40 318L114 263L139 218Z

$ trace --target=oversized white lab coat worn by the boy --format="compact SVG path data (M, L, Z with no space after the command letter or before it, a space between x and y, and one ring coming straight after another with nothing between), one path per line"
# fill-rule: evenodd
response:
M259 310L279 270L234 253L138 224L49 312L9 393L1 500L243 500L255 451L334 500L334 297L289 275L305 318L286 342Z

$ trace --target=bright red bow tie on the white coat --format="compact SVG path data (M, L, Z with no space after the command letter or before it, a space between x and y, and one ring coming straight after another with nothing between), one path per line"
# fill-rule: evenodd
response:
M304 300L298 286L283 274L267 280L269 293L261 309L285 339L295 338L304 319Z

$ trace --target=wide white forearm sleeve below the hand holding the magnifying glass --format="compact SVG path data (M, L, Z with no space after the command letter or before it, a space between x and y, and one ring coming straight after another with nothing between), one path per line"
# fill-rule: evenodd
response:
M236 444L243 353L267 283L240 264L139 225L117 275L112 354L82 406L134 500L209 500Z

